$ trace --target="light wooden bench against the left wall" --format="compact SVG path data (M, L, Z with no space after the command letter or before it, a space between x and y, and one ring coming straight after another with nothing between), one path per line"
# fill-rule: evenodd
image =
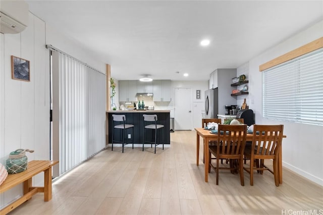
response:
M0 193L24 183L24 195L0 210L0 214L7 214L38 192L43 192L44 201L49 201L51 199L51 167L58 163L58 161L30 161L26 171L8 175L0 185ZM32 177L40 172L44 172L44 187L32 187Z

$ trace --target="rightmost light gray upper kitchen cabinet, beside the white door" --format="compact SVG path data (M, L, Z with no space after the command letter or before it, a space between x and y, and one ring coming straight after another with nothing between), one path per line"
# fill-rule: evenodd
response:
M172 101L171 80L153 81L153 101L154 102Z

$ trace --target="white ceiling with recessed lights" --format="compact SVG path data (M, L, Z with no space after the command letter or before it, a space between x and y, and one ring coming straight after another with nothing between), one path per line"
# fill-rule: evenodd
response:
M111 64L118 80L208 80L323 19L323 1L26 2ZM199 45L204 38L208 47Z

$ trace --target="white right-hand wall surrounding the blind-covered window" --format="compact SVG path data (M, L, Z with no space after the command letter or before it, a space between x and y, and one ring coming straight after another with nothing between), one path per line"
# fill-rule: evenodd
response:
M247 104L256 123L284 124L283 165L323 185L323 126L268 120L262 117L262 73L259 65L323 36L323 21L265 51L249 61ZM284 174L283 174L284 177Z

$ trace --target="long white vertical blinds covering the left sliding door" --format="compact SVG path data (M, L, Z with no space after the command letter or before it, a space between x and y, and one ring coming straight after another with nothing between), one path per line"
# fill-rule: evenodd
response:
M59 143L53 144L59 144L61 175L105 147L105 75L58 51L52 51L52 63L58 64L52 73L58 77L53 88L59 85L53 99L53 109L59 110L53 135L59 135Z

